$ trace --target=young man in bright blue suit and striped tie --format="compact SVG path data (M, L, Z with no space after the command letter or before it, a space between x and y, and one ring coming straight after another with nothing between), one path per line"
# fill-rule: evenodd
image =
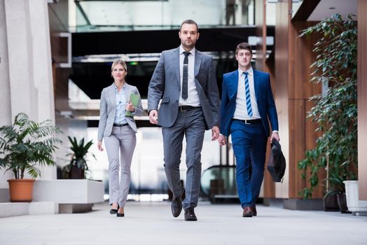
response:
M269 74L251 68L251 46L240 43L235 54L238 69L223 75L218 141L223 146L232 135L242 216L252 217L257 215L255 203L263 182L269 121L270 140L279 141L278 118Z

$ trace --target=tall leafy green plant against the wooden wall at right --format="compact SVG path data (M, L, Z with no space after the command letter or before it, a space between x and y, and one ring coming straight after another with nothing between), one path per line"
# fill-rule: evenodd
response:
M312 64L313 83L328 87L324 94L310 98L314 102L308 118L317 123L321 136L313 149L307 150L305 159L298 162L302 178L309 185L300 195L312 197L314 187L325 187L327 195L344 193L342 181L356 179L357 169L357 26L353 15L346 20L339 14L321 20L317 25L303 30L300 36L319 34L314 52L317 59ZM326 179L320 183L319 174L326 170ZM324 198L326 200L326 198Z

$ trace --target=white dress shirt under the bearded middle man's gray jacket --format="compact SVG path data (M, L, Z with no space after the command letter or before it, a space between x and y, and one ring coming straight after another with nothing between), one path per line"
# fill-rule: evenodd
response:
M183 59L185 59L185 55L183 52L186 50L183 49L182 45L179 48L180 52L180 97L179 97L179 105L180 106L200 106L200 99L198 95L198 90L196 90L195 85L195 76L194 76L194 68L195 68L195 48L190 50L190 55L188 55L188 97L187 99L182 99L182 78L183 78Z

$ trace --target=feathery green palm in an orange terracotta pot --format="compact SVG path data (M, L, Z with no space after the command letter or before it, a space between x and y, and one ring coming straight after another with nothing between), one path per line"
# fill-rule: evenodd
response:
M11 202L32 201L34 179L41 176L37 166L55 165L60 132L50 120L35 123L25 113L15 116L13 125L0 127L0 168L14 176L8 180ZM26 173L33 179L24 179Z

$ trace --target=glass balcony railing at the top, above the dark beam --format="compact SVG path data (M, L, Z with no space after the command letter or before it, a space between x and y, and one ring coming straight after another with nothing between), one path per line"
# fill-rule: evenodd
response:
M193 19L200 27L254 25L254 0L69 0L71 31L178 29Z

